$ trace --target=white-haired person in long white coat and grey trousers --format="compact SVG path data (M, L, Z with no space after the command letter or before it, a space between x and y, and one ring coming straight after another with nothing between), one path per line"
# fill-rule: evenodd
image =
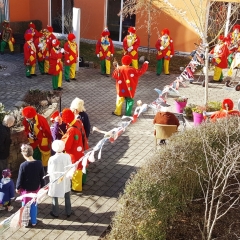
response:
M67 153L63 153L65 143L62 140L54 140L52 149L55 155L51 156L48 161L48 174L50 175L48 195L52 197L52 211L50 215L54 218L59 216L58 198L65 198L65 213L67 217L71 215L71 180L67 176L63 180L58 180L62 177L62 173L66 172L67 166L72 165L71 157Z

